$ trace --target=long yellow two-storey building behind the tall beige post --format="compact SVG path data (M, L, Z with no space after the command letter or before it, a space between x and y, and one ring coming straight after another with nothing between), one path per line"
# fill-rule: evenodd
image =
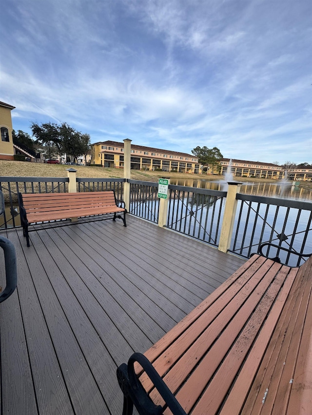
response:
M91 165L123 168L124 143L104 141L91 145ZM131 144L131 168L180 173L199 173L198 158L192 154Z

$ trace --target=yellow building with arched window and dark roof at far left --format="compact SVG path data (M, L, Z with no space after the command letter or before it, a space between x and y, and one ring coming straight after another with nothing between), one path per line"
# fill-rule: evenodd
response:
M12 139L12 105L0 101L0 160L14 160L14 147Z

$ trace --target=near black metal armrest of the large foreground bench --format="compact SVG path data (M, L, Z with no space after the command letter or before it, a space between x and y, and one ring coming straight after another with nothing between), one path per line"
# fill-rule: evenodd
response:
M171 412L174 415L186 415L185 411L176 400L176 397L156 372L152 363L142 353L134 353L130 357L128 365L123 363L117 368L117 379L125 399L130 397L139 414L160 415L163 413L162 407L160 405L156 406L153 403L139 381L134 368L136 361L142 366L148 377L152 380L159 395L164 399Z

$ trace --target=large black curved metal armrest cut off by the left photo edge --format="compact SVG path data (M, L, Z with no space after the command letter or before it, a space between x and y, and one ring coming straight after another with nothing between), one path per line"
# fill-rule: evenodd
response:
M4 252L6 286L0 294L0 303L10 297L16 289L18 274L14 245L9 239L0 236L0 247Z

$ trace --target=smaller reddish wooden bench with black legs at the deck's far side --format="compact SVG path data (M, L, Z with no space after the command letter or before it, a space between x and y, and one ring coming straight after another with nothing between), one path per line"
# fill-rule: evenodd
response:
M19 193L20 219L29 247L28 226L50 220L114 214L126 224L127 210L120 207L124 202L117 200L113 190L81 193ZM123 215L117 215L122 213ZM101 219L103 219L101 217Z

